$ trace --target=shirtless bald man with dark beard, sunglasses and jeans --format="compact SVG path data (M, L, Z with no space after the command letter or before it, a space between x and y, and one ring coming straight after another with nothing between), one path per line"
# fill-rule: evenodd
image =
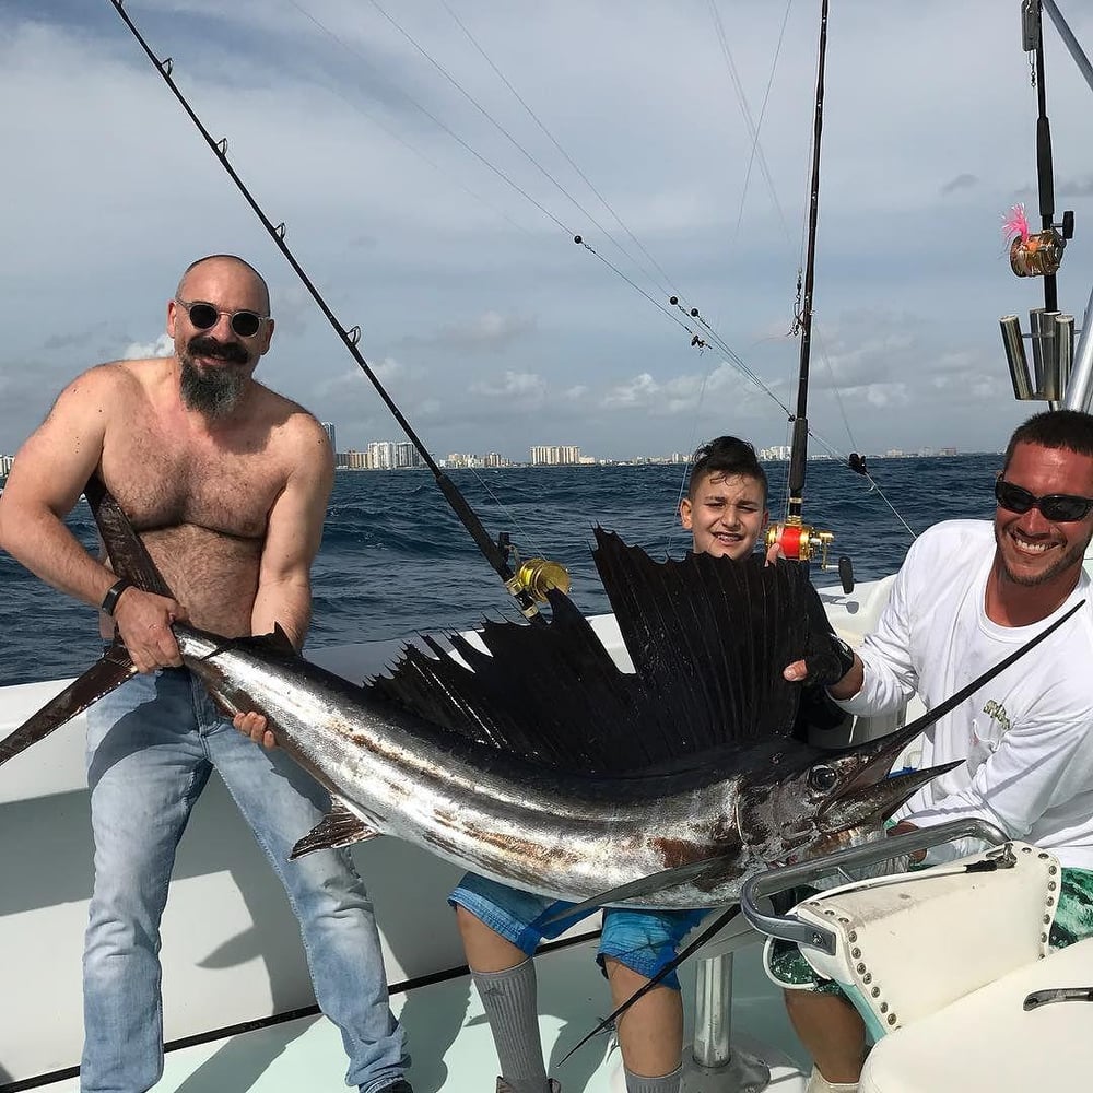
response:
M160 918L175 848L215 767L291 896L316 998L342 1031L346 1082L410 1093L379 937L348 854L289 853L329 808L282 752L235 731L181 667L173 620L230 637L279 623L298 648L333 482L303 408L254 379L273 337L269 291L230 255L196 261L167 304L175 353L85 372L15 457L0 545L103 608L142 674L89 712L95 888L84 951L84 1093L144 1093L163 1070ZM177 601L126 587L62 522L97 471ZM113 618L110 618L113 615Z

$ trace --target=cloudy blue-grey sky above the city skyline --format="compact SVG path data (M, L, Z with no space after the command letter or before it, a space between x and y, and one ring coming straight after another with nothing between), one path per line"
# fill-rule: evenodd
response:
M1060 7L1093 52L1093 10ZM1013 400L998 331L1043 305L1001 231L1037 200L1019 0L832 9L813 450L998 450L1043 408ZM437 457L788 443L819 0L125 11ZM114 4L4 16L0 453L84 368L169 352L166 302L214 252L270 282L258 377L334 422L342 450L401 439ZM1046 33L1057 208L1078 225L1060 301L1080 317L1093 92Z

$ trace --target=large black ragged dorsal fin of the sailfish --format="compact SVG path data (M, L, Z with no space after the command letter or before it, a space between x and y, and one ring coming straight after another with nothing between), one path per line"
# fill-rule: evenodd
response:
M762 557L655 562L600 528L596 540L634 673L555 590L545 626L485 623L485 653L451 635L470 670L426 639L434 656L408 647L372 687L448 731L588 774L669 769L789 736L800 685L781 673L814 625L807 573Z

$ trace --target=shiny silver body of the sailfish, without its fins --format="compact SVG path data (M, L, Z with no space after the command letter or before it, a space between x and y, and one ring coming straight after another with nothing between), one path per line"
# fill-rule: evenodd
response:
M447 739L268 639L175 631L187 667L210 693L226 710L263 714L289 754L363 821L359 837L395 835L544 895L579 902L710 861L706 877L620 902L716 906L734 900L755 869L802 856L813 843L832 849L880 831L873 818L853 832L821 830L819 812L837 785L809 787L818 784L813 768L832 771L832 760L792 741L733 750L721 756L733 773L714 780L716 756L673 774L565 775ZM872 759L835 762L856 775ZM900 796L919 784L901 786Z

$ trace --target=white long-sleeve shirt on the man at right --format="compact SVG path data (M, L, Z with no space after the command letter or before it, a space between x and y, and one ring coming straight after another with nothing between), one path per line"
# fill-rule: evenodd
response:
M1090 599L1083 572L1047 619L999 626L984 609L994 554L994 528L977 520L939 524L917 540L858 650L865 683L844 709L889 713L916 692L930 709ZM922 787L900 818L930 826L982 816L1065 866L1093 869L1093 604L927 729L917 765L953 760L966 762Z

